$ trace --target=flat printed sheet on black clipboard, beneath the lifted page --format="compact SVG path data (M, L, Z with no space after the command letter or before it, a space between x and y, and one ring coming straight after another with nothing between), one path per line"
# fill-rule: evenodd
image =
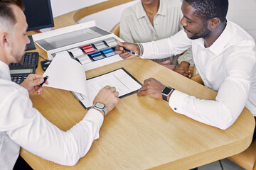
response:
M108 72L107 74L102 74L98 77L93 77L92 79L87 79L86 84L87 95L73 92L85 108L90 108L92 106L92 102L97 93L107 85L114 86L117 89L119 98L134 94L142 87L139 81L123 68Z

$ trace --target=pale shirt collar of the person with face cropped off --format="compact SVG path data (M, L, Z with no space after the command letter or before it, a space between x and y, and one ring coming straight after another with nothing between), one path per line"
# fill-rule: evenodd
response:
M164 5L164 1L159 1L159 10L157 11L156 15L162 15L162 16L167 16L167 8ZM136 4L136 17L137 19L147 17L146 11L144 10L142 6L142 1Z

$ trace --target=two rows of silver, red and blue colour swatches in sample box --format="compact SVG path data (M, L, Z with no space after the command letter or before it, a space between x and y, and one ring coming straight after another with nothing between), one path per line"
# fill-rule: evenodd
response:
M115 54L112 47L116 46L117 41L114 38L107 38L106 40L92 42L91 44L75 47L67 51L70 53L70 55L73 55L73 57L78 59L81 64L87 64L89 62L114 56Z

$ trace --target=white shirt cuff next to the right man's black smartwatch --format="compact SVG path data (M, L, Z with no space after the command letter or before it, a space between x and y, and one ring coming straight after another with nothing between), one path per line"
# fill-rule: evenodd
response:
M176 113L183 114L183 103L187 96L187 94L183 94L181 91L175 90L169 98L169 106L171 109Z

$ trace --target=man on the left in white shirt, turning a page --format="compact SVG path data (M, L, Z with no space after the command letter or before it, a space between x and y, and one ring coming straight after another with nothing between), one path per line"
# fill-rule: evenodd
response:
M23 9L20 0L0 0L0 169L14 168L20 147L51 162L74 165L99 138L105 115L119 102L118 92L105 86L93 101L95 108L66 132L46 120L29 98L43 92L43 77L30 74L21 85L10 77L9 64L23 61L29 42Z

